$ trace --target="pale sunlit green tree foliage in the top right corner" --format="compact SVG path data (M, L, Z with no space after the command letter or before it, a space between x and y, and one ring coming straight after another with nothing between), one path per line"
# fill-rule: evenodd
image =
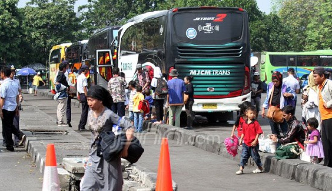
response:
M278 12L290 30L293 51L331 49L330 0L283 0Z

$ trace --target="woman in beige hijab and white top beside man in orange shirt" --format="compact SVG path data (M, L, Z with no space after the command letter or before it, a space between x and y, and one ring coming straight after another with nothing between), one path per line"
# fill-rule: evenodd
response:
M304 121L307 119L314 117L318 120L318 130L320 130L320 114L318 110L318 94L317 94L317 86L313 80L313 72L310 72L308 85L303 88L302 92L302 117Z

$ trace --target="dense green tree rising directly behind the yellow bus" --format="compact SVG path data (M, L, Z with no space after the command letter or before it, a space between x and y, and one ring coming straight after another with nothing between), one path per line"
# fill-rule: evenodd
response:
M86 37L74 12L74 3L75 0L32 0L22 9L23 46L28 48L22 56L24 62L45 63L52 46Z

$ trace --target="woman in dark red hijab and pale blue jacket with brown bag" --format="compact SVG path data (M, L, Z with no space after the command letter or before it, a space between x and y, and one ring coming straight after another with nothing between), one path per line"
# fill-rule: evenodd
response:
M272 91L272 88L274 90ZM273 93L272 93L273 92ZM265 117L265 109L268 109L270 106L270 98L271 98L271 105L279 107L282 109L286 105L292 105L295 107L294 100L296 99L296 94L294 91L291 90L289 86L283 84L283 75L276 71L272 74L272 82L268 85L268 91L266 99L262 106L262 117ZM286 136L288 131L288 125L286 120L281 123L276 123L272 119L269 120L272 134L279 135L279 126L282 130L284 136Z

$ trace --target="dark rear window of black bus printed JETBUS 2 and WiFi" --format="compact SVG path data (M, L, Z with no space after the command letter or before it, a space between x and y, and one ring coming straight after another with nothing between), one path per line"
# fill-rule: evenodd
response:
M241 39L243 15L231 12L178 13L173 17L178 40L195 44L224 44Z

